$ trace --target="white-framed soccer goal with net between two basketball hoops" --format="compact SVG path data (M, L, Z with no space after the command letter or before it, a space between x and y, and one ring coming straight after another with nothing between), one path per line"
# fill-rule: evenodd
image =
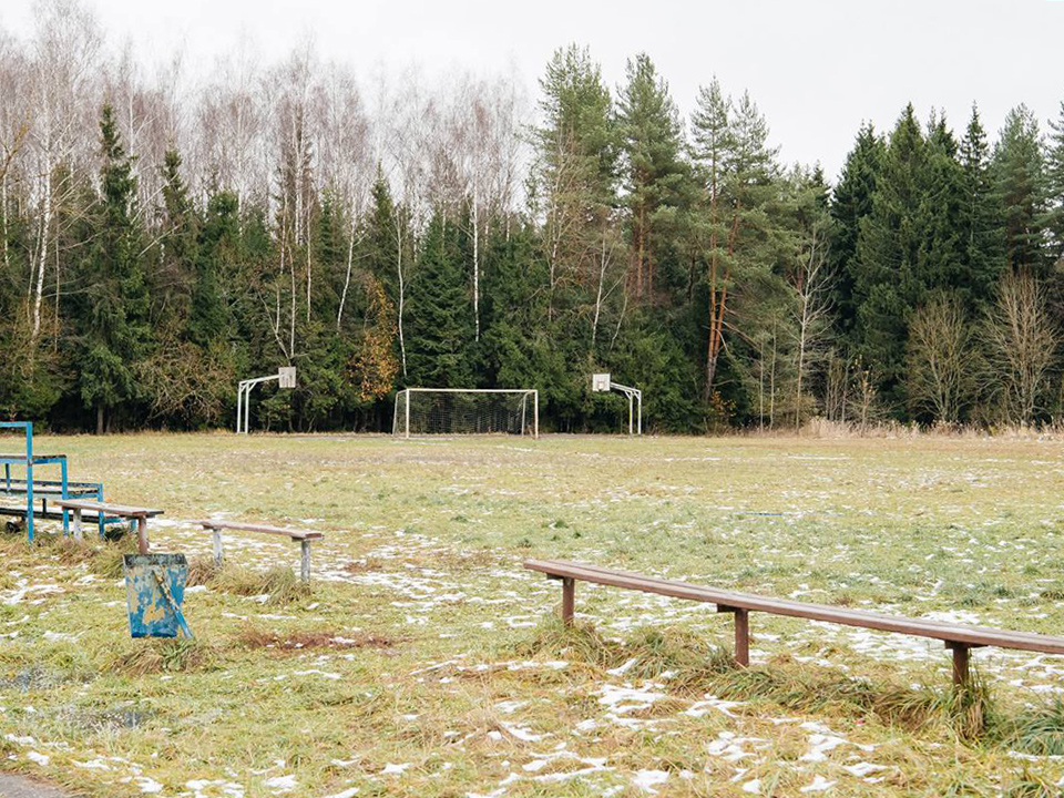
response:
M392 432L540 437L540 392L530 388L407 388L396 395Z

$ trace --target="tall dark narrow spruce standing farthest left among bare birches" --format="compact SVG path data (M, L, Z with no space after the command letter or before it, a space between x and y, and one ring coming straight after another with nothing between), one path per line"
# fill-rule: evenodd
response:
M151 345L149 291L135 219L136 177L110 105L100 119L102 196L90 255L91 316L81 365L81 399L96 411L96 432L106 413L137 397L136 365Z

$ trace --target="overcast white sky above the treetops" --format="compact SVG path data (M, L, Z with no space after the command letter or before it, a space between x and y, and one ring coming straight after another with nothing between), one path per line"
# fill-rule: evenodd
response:
M33 0L0 0L0 25L32 27ZM1024 102L1055 119L1064 100L1064 0L90 0L112 45L145 63L183 48L205 70L249 38L264 62L309 34L324 59L362 73L515 70L535 92L552 51L591 45L611 85L645 50L687 114L716 74L748 89L788 161L841 166L862 120L893 124L912 101L955 129L978 101L993 133Z

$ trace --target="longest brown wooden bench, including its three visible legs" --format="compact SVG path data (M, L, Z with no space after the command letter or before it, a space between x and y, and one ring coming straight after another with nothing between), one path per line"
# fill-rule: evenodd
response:
M656 593L657 595L707 602L717 605L717 612L735 615L735 661L741 666L750 664L750 613L764 612L771 615L801 617L810 621L826 621L843 626L860 626L880 632L932 637L945 643L953 652L953 682L964 684L969 679L969 651L982 646L1016 648L1043 654L1064 654L1064 637L1051 637L1033 632L1010 632L983 626L964 626L942 621L909 618L861 610L808 604L785 598L771 598L753 593L702 587L678 580L643 576L627 571L614 571L596 565L567 562L562 560L529 560L526 569L544 573L550 579L562 582L562 621L573 623L575 604L575 583L625 587L627 590Z

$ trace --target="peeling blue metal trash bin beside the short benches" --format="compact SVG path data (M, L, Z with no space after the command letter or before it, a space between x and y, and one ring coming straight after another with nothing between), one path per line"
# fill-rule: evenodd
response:
M188 579L184 554L126 554L125 596L133 637L185 637L192 631L181 611Z

